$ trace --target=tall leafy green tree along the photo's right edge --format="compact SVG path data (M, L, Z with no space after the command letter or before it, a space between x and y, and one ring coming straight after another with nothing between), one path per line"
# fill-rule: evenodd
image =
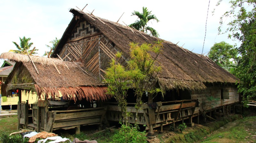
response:
M238 91L243 95L244 105L247 100L256 99L256 0L231 0L231 10L224 13L220 24L225 17L232 17L228 23L227 32L241 42L237 47L241 58L238 58L237 69L234 72L240 79ZM219 28L221 32L221 27Z

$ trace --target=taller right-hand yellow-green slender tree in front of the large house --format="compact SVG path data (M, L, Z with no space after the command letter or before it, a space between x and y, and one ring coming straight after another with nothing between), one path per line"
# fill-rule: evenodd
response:
M135 90L136 96L136 115L137 122L138 111L142 106L142 96L148 93L148 96L161 92L161 89L155 87L156 76L162 70L161 66L155 64L156 58L162 52L162 41L151 44L130 44L130 56L128 67L131 70L130 81ZM150 53L154 53L154 57Z

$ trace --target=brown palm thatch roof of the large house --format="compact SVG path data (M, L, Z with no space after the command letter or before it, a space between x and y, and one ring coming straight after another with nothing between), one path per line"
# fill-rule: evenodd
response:
M162 40L92 14L86 15L76 9L70 9L70 12L73 13L74 17L56 47L53 57L56 57L56 54L61 51L70 36L69 33L75 28L78 17L84 18L109 38L120 51L126 54L126 58L129 58L129 44L131 42L153 44L157 40ZM174 43L163 41L163 53L157 58L158 64L163 69L157 76L162 89L200 90L206 88L206 83L234 84L237 81L234 75L215 64L208 57L201 57L200 54L193 53Z

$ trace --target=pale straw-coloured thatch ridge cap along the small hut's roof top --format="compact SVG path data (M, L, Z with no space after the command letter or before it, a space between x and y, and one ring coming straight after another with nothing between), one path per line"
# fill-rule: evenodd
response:
M2 53L0 55L0 59L8 59L10 61L16 61L16 62L31 62L28 55L18 54L18 53ZM69 64L68 66L74 65L70 62L62 61L56 58L31 56L31 59L33 60L34 63L40 63L42 65L48 65L48 66L53 66L54 64L56 66L66 66L65 63Z

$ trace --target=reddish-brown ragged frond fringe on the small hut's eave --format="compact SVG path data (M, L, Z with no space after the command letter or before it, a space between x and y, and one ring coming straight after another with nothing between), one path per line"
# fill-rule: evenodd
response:
M77 100L86 99L88 101L93 100L102 100L105 101L110 99L110 95L106 94L106 86L78 86L78 87L59 87L59 88L49 88L49 87L40 87L37 84L35 85L35 90L38 93L39 99L42 94L46 95L46 100L48 98L60 97L62 95L64 100ZM55 95L55 96L52 96Z

